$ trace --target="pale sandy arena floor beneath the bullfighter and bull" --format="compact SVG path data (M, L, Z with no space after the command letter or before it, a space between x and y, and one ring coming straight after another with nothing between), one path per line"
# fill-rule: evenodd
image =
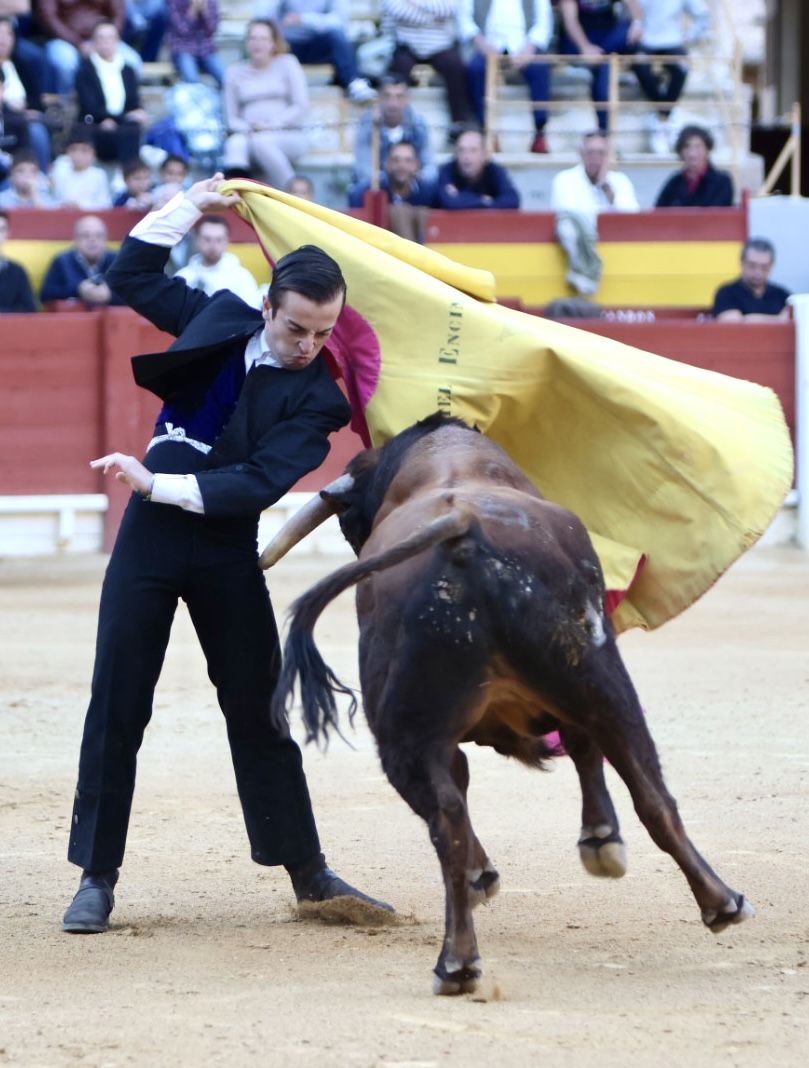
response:
M502 892L476 913L484 980L461 999L431 993L438 865L364 724L355 750L307 750L310 786L330 863L405 922L299 922L284 874L250 862L184 612L142 751L113 927L60 931L76 883L64 857L103 567L0 562L0 1065L806 1063L809 555L757 550L680 619L621 640L686 827L758 916L718 938L704 930L614 776L629 874L588 877L570 763L531 773L473 749L472 816ZM279 566L279 615L324 568ZM318 638L355 680L351 595Z

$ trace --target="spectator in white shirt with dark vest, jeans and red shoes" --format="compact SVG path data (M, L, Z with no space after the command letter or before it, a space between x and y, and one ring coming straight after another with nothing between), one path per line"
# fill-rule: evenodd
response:
M554 31L550 0L462 0L461 18L461 36L474 47L467 73L472 106L481 126L486 125L483 107L488 56L508 57L509 65L527 82L532 103L550 98L550 67L547 63L531 62L531 57L548 50ZM547 109L534 108L531 152L548 151L545 141L547 120Z

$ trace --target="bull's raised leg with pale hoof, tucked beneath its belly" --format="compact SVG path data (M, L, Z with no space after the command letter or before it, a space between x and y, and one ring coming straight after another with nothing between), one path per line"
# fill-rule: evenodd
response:
M590 875L620 879L626 875L626 847L604 780L604 755L584 731L562 724L559 733L581 785L581 863Z

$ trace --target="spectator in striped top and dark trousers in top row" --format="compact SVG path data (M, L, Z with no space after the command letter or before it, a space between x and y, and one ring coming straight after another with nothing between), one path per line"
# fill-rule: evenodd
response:
M450 137L472 117L464 61L457 45L462 0L382 0L383 25L395 40L390 73L409 83L417 63L429 63L447 88ZM386 147L387 152L387 147ZM382 158L385 159L385 153Z

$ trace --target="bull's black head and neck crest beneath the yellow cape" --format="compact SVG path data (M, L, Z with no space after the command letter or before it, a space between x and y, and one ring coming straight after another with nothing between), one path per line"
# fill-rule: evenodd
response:
M444 426L457 426L470 434L478 433L462 419L436 411L402 430L382 449L367 449L351 461L346 470L354 476L354 486L346 493L341 493L335 503L343 537L357 554L368 540L376 513L399 473L408 449Z

